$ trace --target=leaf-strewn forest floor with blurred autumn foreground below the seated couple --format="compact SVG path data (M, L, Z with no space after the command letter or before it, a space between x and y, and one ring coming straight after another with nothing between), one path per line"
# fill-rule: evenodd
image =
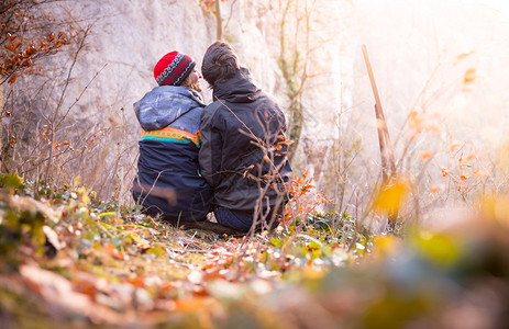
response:
M3 177L1 328L502 328L507 200L445 231L309 214L232 238Z

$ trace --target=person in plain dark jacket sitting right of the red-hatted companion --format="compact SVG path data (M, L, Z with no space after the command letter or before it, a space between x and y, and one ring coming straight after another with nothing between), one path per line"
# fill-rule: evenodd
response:
M228 43L207 49L201 73L214 102L201 115L199 162L214 191L215 219L240 231L272 228L291 174L285 116Z

